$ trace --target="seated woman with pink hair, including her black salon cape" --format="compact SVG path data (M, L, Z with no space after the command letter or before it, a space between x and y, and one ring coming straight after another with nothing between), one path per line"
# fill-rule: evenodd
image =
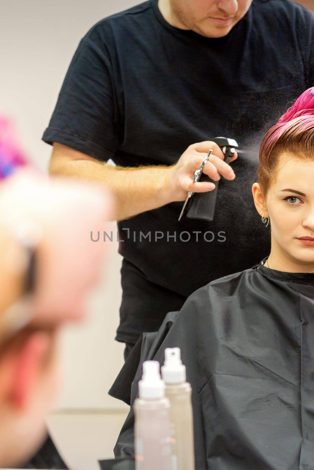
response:
M162 364L166 347L181 348L197 470L314 469L314 88L266 133L259 159L252 193L269 257L195 291L154 355ZM132 409L126 423L117 454L132 452Z

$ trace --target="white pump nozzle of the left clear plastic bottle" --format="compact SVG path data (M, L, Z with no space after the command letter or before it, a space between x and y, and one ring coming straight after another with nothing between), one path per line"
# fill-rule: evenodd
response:
M143 376L138 382L138 392L139 397L144 399L159 399L165 396L165 384L161 380L157 360L143 362Z

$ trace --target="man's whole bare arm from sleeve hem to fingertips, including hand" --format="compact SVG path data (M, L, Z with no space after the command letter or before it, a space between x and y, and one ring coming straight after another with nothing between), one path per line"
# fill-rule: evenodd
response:
M209 149L214 151L208 158ZM49 172L91 180L111 189L117 200L116 219L127 219L145 211L157 209L174 201L184 201L188 191L204 192L215 188L212 182L193 182L193 175L203 163L203 173L217 181L220 175L233 180L230 165L215 142L190 145L172 166L142 168L108 168L102 162L78 150L54 143ZM235 154L231 162L237 158Z

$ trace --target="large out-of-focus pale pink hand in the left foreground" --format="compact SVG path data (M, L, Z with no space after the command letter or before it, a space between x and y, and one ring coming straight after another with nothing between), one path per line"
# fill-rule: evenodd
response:
M34 313L37 321L81 319L98 282L105 246L101 234L113 201L102 188L19 170L1 184L0 218L31 221L41 232ZM98 242L92 242L93 231Z

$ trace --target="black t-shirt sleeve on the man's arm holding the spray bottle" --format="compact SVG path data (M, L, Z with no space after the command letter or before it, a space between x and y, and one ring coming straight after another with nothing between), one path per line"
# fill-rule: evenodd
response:
M72 58L42 140L107 160L118 147L117 121L109 50L86 36Z

